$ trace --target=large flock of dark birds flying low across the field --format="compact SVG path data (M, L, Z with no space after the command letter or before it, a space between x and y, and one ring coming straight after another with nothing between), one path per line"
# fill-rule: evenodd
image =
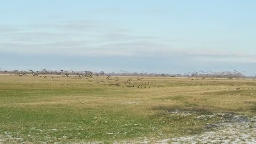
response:
M59 71L48 71L47 69L41 69L41 71L35 71L33 69L28 69L27 71L22 70L13 70L13 71L1 71L2 68L0 68L0 73L3 74L9 74L9 75L16 75L19 77L28 77L29 75L32 75L33 77L42 77L45 79L59 79L60 77L67 77L70 78L71 80L80 80L80 79L84 79L84 80L88 80L88 82L92 83L107 83L108 85L115 85L120 87L123 83L126 85L126 87L128 88L152 88L152 87L163 87L162 84L156 83L156 82L145 82L143 80L141 80L142 78L128 78L127 80L125 80L125 82L123 82L123 80L119 80L118 77L115 77L115 75L111 75L111 74L105 74L103 71L97 73L97 72L91 72L91 71L81 71L81 72L76 72L73 70L70 71L65 71L63 69L60 69ZM123 69L120 70L121 75L131 75L130 73L128 73L128 71L125 71ZM209 71L195 71L195 72L187 72L184 73L183 75L181 74L176 74L176 75L170 75L170 74L157 74L157 73L151 73L150 75L148 75L147 72L140 72L139 74L136 73L137 75L146 75L146 76L156 76L156 77L187 77L190 80L200 80L200 79L205 79L207 77L211 77L211 78L221 78L221 77L225 77L225 78L230 78L230 77L234 77L235 75L239 74L240 72L238 72L237 70L234 70L233 73L229 72L212 72L212 70ZM241 73L240 73L241 74ZM200 78L199 78L200 77ZM216 82L216 81L214 81ZM197 84L198 82L196 82L195 84ZM124 86L122 86L124 88Z

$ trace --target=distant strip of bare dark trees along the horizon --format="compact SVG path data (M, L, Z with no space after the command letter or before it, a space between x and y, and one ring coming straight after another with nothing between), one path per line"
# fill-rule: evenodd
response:
M122 72L111 72L111 73L105 73L104 71L100 72L93 72L93 71L64 71L64 70L47 70L47 69L41 69L41 70L2 70L0 69L0 74L9 74L9 75L18 75L18 74L31 74L31 75L62 75L63 73L68 75L113 75L113 76L147 76L147 77L202 77L202 78L256 78L256 76L245 76L243 75L243 72L204 72L202 70L195 71L195 72L186 72L184 74L168 74L168 73L148 73L148 72L128 72L128 71L122 71Z

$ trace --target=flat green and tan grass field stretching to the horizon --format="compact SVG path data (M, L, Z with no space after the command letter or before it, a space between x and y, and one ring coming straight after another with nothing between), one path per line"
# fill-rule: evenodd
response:
M0 143L172 143L214 131L209 125L228 118L215 114L256 112L255 80L104 79L0 75Z

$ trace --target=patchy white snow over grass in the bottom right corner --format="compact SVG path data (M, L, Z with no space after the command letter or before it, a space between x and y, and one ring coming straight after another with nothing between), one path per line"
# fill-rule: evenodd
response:
M215 116L229 117L223 119L216 124L208 124L208 128L214 128L213 131L208 131L195 136L178 137L157 141L159 144L255 144L256 143L256 116L248 117L246 115L232 114L214 114L201 115L197 118Z

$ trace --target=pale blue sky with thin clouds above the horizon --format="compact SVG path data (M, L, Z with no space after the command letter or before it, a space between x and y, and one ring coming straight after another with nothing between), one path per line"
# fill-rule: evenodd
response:
M5 0L2 69L256 73L255 0Z

